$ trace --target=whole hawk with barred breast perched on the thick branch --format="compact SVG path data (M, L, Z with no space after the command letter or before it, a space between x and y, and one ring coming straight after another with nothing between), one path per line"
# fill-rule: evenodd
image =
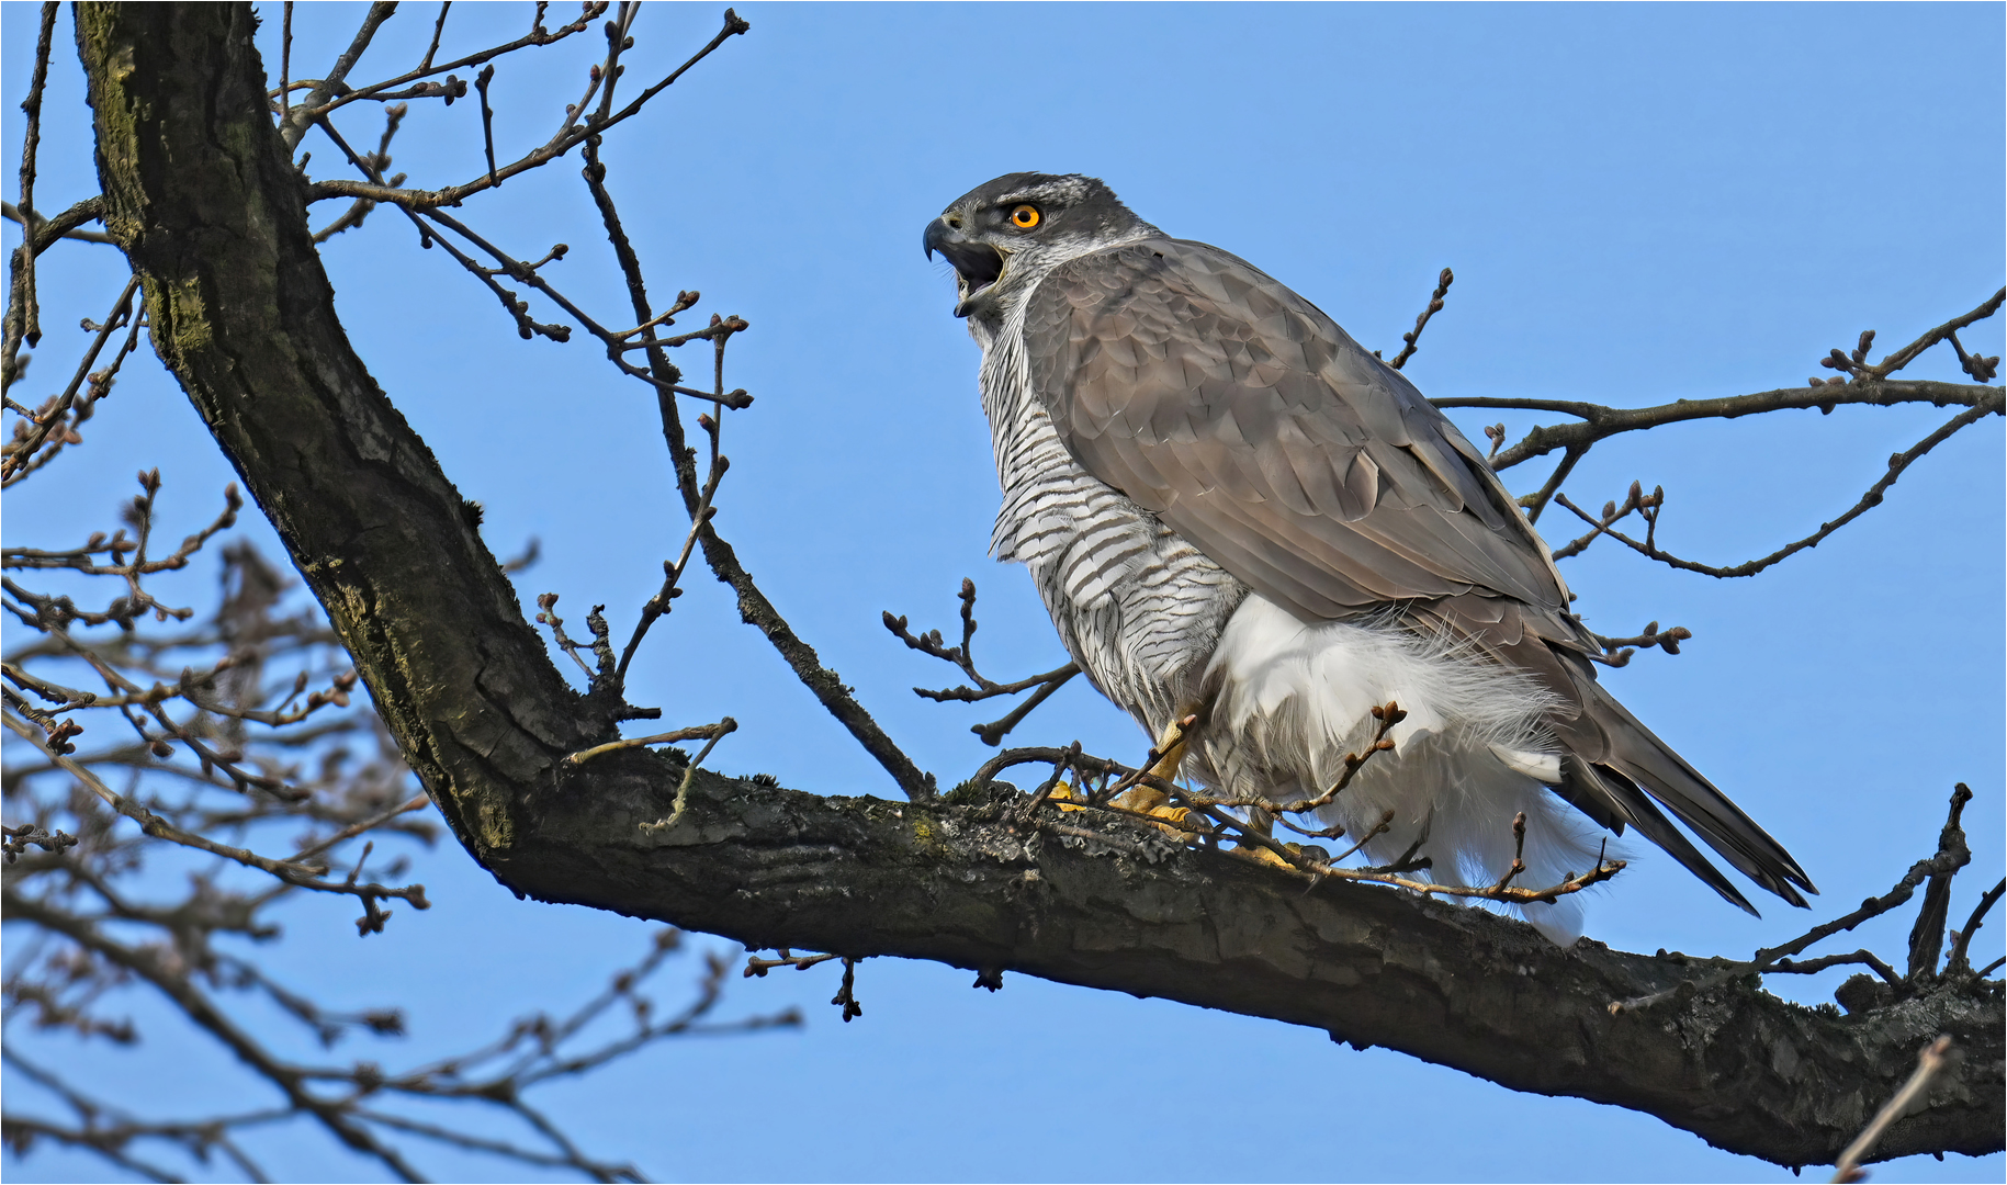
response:
M1786 902L1816 892L1598 685L1598 647L1485 456L1323 309L1092 177L997 177L927 223L925 249L953 265L983 353L991 552L1030 568L1094 687L1182 745L1180 775L1315 797L1397 701L1395 747L1321 811L1361 836L1391 809L1375 862L1413 850L1437 882L1497 882L1523 811L1519 884L1545 888L1596 866L1588 821L1630 825L1754 914L1670 811ZM1523 914L1569 944L1580 900Z

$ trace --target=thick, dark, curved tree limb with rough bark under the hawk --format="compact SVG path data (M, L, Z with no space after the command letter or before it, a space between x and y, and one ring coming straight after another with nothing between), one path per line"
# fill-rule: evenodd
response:
M153 341L277 526L403 753L468 848L540 900L755 946L931 958L1166 996L1383 1044L1499 1085L1644 1111L1782 1165L1830 1163L1917 1050L1967 1050L1881 1157L2003 1143L1999 984L1871 1012L1754 976L1646 1010L1696 972L1479 910L1301 880L1001 801L819 797L686 771L574 693L482 544L478 514L369 378L265 110L245 4L82 4L104 225Z

